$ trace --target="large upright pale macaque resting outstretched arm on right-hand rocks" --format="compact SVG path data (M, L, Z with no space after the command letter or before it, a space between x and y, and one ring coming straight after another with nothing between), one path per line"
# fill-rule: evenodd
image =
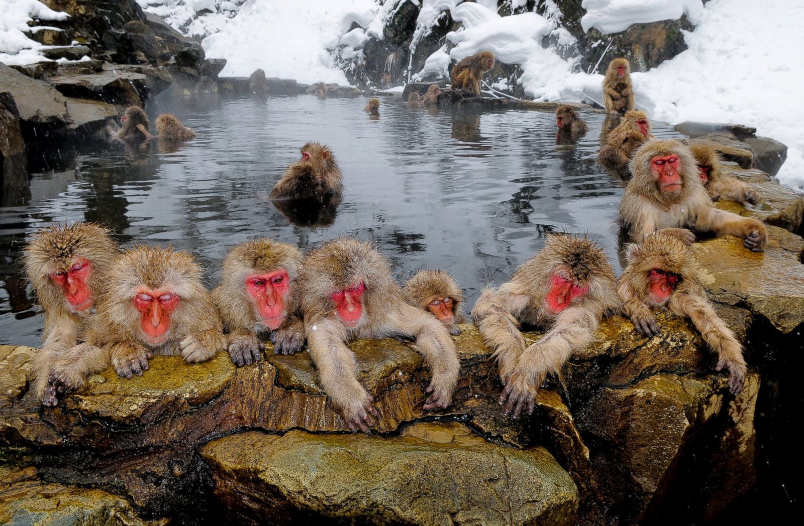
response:
M633 178L620 202L620 222L632 241L638 243L653 230L683 227L734 234L752 251L765 249L768 233L761 222L712 205L695 157L681 141L646 142L631 159L630 170Z

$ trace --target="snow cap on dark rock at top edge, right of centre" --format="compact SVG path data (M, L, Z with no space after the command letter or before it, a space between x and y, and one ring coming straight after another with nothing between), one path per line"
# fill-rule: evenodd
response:
M701 0L584 0L586 14L580 25L589 32L593 27L603 35L626 31L632 24L678 20L682 14L696 25L704 10Z

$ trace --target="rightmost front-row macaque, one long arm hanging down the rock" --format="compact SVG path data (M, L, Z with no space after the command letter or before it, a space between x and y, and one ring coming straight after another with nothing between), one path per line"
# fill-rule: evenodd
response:
M740 393L746 373L742 346L717 316L699 283L691 236L677 232L657 230L645 234L641 243L626 245L628 266L617 283L623 312L634 328L648 337L660 332L653 316L660 308L690 318L717 353L716 370L728 369L728 387L733 394Z

